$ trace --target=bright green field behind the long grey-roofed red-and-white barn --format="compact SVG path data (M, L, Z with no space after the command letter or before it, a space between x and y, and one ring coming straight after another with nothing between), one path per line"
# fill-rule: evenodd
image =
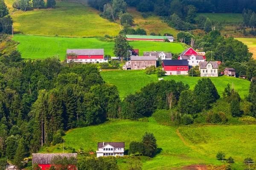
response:
M61 60L65 59L66 50L72 48L104 48L105 54L113 56L114 42L102 42L97 38L67 38L67 37L44 37L16 34L12 40L20 42L18 51L23 58L44 59L58 54ZM130 45L139 48L140 55L143 51L171 51L181 53L184 48L180 43L131 41Z

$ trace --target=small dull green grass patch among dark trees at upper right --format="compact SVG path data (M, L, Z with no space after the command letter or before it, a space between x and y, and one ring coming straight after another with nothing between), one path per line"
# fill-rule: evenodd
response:
M243 15L235 13L198 13L197 17L200 15L208 17L211 21L215 23L221 22L223 25L232 25L243 21Z

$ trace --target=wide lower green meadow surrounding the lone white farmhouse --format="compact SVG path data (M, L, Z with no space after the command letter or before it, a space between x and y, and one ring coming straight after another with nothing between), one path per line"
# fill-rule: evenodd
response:
M73 129L68 131L64 138L65 146L67 148L73 147L76 150L82 147L84 151L95 151L97 149L97 142L110 141L123 141L125 142L125 149L128 149L131 141L140 141L146 131L151 132L156 137L157 145L161 148L161 152L154 158L143 162L143 169L145 170L170 169L171 167L181 167L189 164L220 165L221 161L215 159L215 153L218 150L224 150L228 153L227 156L233 156L236 161L235 166L239 167L238 169L243 169L239 161L244 159L244 156L255 157L256 147L253 145L255 125L181 128L180 132L182 135L184 134L185 142L187 140L187 133L185 131L191 131L195 136L193 141L195 144L188 140L189 145L186 145L180 139L176 129L176 127L159 125L153 118L149 118L149 122L119 120L97 126ZM210 133L208 129L211 129ZM203 132L207 133L203 134ZM246 135L246 138L241 140L243 135ZM201 136L204 139L201 139ZM198 142L200 143L202 140L209 143L210 147L201 148ZM232 147L232 145L241 146L241 150ZM61 148L62 144L56 144L48 148L44 147L40 152L61 153ZM66 149L64 151L67 153L72 150Z

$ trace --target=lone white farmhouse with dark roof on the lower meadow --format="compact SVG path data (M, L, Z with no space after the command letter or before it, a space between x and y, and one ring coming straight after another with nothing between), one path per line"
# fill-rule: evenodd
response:
M100 156L123 156L125 142L98 142L97 157Z

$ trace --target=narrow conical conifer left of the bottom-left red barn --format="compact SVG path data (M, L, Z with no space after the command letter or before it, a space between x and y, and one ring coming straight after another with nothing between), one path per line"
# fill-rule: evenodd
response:
M17 147L17 152L14 156L14 164L17 166L18 170L21 170L23 168L23 163L21 161L23 161L23 159L27 154L25 144L26 144L25 140L21 138Z

